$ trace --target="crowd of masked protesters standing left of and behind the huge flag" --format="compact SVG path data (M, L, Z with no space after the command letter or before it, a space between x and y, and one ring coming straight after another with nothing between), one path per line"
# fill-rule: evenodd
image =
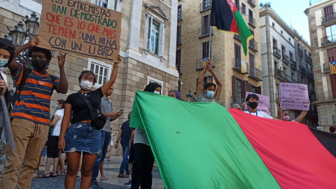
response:
M68 82L64 73L66 53L57 56L59 77L51 75L47 69L52 59L51 51L38 48L38 38L33 37L29 43L14 48L10 41L0 38L0 67L7 67L15 79L17 91L10 96L7 88L7 77L0 69L0 96L4 97L10 114L10 128L13 132L15 150L6 148L6 161L3 167L0 188L30 188L33 177L46 178L64 176L65 188L74 188L80 170L80 188L102 188L97 182L109 177L104 175L104 158L111 145L111 121L120 118L123 110L115 111L109 97L113 94L120 56L113 64L111 78L95 90L92 86L97 78L92 71L82 71L78 77L80 90L69 94L66 99L58 99L55 115L50 119L51 95L55 90L66 94ZM20 52L28 50L31 57L31 68L14 60ZM209 71L215 83L204 83L204 76ZM197 81L197 102L218 102L221 97L222 83L212 69L211 59ZM161 94L162 86L158 83L146 85L145 92ZM181 100L178 90L170 90L169 97ZM244 104L233 104L232 109L262 118L300 122L307 111L290 119L288 110L281 110L278 101L276 118L263 111L257 111L259 97L248 94ZM13 108L12 105L13 104ZM245 110L245 106L247 109ZM2 106L1 106L2 107ZM125 186L131 188L151 188L152 171L155 158L148 141L146 131L130 125L131 113L120 127L114 148L121 146L123 161L120 165L118 178L129 178ZM8 118L9 119L9 118ZM0 127L0 134L3 126ZM330 132L335 127L330 127ZM66 154L66 158L62 154ZM46 162L45 157L46 156ZM42 157L42 158L41 158ZM64 160L67 169L64 169ZM52 170L50 166L53 162ZM38 167L45 165L43 173Z

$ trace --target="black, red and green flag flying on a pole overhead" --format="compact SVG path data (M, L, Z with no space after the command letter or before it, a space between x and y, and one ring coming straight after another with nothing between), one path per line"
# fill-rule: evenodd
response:
M218 31L239 35L247 56L247 44L253 35L231 0L212 0L210 25Z

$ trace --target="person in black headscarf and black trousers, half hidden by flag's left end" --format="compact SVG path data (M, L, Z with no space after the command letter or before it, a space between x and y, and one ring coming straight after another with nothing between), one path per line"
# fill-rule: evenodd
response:
M146 92L161 94L162 86L158 83L149 83L146 85ZM152 187L152 170L154 155L149 144L145 130L135 129L134 134L134 160L132 167L132 186L131 189L151 188Z

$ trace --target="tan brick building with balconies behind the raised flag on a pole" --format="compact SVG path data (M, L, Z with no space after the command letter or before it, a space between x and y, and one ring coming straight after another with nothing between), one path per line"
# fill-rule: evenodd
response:
M210 29L210 0L179 1L176 67L180 73L179 88L185 99L189 91L193 95L196 91L204 57L212 58L214 71L223 84L219 104L226 108L234 103L242 104L246 91L262 94L258 1L236 0L235 5L254 34L254 40L248 44L247 57L239 36ZM203 80L208 82L214 82L209 72Z

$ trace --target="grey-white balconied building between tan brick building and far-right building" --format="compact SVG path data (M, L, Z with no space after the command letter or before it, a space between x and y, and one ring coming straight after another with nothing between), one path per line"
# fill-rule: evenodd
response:
M260 8L260 36L262 57L262 85L264 94L270 97L272 115L276 116L276 99L280 83L302 83L308 85L311 108L302 123L311 127L318 125L314 73L312 71L311 48L293 27L284 22L268 5ZM290 118L297 118L301 111L290 111Z

